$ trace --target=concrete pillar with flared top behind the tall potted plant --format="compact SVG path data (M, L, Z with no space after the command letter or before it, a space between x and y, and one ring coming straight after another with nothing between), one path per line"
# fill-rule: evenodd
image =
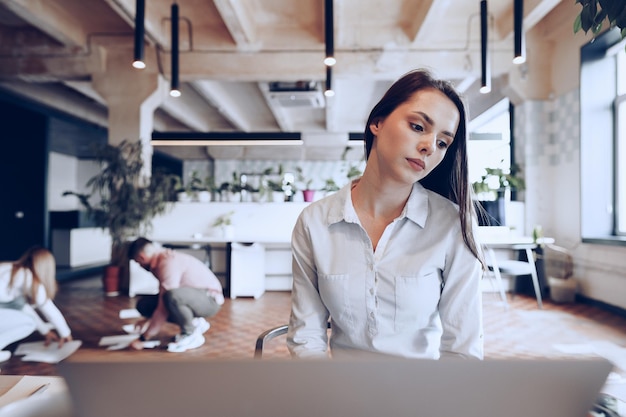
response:
M145 173L149 175L154 111L167 97L167 86L156 65L138 70L131 65L132 57L128 48L108 49L104 71L94 74L92 85L108 105L109 144L118 145L125 139L141 141Z

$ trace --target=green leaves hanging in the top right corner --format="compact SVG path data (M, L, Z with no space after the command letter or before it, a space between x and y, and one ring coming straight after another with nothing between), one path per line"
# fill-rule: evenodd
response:
M626 38L626 0L576 0L576 3L582 9L574 20L574 33L591 30L596 36L608 22L609 27L619 28L622 39Z

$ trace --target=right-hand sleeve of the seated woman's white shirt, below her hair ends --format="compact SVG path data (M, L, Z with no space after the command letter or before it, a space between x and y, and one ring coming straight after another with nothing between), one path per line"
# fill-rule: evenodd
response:
M447 255L439 304L442 358L483 359L481 263L465 245L460 231Z

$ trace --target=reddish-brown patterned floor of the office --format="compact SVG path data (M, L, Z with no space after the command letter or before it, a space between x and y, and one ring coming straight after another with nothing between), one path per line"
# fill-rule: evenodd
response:
M161 335L161 347L144 351L108 351L98 346L102 336L124 334L122 326L134 322L120 319L119 312L133 308L136 299L127 296L106 297L99 277L64 282L56 303L82 341L75 356L98 360L159 360L184 355L189 358L251 358L256 337L262 331L287 322L290 308L288 292L266 292L259 299L226 300L213 317L205 344L185 353L169 353L164 347L177 333L168 324ZM534 298L518 295L504 308L495 293L484 295L486 358L567 357L567 347L581 344L615 346L626 352L626 318L589 304L555 304L546 300L539 310ZM26 341L41 340L38 334ZM9 346L14 350L17 343ZM267 357L287 358L284 337L275 339ZM626 355L625 355L626 357ZM0 364L2 374L57 375L56 365L24 362L13 356Z

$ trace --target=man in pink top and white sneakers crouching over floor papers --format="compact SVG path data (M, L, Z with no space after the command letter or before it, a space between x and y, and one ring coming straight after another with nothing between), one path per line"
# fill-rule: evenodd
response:
M192 255L167 249L140 237L128 249L129 259L150 271L159 281L159 293L137 301L139 313L149 320L141 336L131 344L143 349L145 341L156 336L166 321L180 326L169 343L169 352L184 352L204 344L210 324L205 317L218 313L224 304L222 285L215 274Z

